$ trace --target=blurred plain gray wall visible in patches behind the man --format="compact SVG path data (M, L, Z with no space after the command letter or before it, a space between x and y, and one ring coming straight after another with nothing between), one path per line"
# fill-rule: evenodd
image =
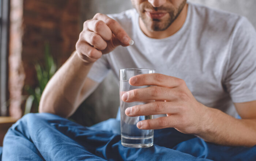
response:
M209 7L222 9L246 16L256 27L255 0L189 0ZM82 20L93 18L97 12L103 14L119 13L132 8L130 0L82 0ZM96 91L85 101L95 110L95 121L99 122L116 116L119 106L118 82L113 79L113 73L99 85ZM100 98L100 99L99 99Z

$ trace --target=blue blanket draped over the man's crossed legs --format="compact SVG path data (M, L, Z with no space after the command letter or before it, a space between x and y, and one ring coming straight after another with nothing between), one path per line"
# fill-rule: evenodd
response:
M256 146L219 146L173 128L154 131L154 145L121 145L120 121L84 127L53 114L27 114L4 138L3 161L255 161ZM1 148L0 148L1 149Z

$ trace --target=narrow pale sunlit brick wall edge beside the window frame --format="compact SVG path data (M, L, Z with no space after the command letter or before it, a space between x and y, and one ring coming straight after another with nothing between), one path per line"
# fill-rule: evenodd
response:
M11 0L10 11L9 112L11 116L19 118L22 115L20 103L25 79L25 71L21 61L23 0Z

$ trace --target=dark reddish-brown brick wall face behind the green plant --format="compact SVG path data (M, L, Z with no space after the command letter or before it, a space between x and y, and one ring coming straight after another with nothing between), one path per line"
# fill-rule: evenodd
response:
M25 84L35 85L34 63L44 58L45 42L63 64L75 50L79 35L79 0L24 0L22 61ZM34 78L34 79L31 79Z

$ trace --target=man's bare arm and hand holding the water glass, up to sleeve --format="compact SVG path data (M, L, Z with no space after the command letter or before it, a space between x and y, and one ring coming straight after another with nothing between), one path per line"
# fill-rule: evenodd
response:
M174 127L185 134L194 134L205 141L229 146L256 145L256 101L236 103L242 119L199 103L184 80L163 74L141 74L130 78L134 86L153 85L134 89L122 95L125 102L157 100L129 107L128 116L167 114L137 123L139 129Z

